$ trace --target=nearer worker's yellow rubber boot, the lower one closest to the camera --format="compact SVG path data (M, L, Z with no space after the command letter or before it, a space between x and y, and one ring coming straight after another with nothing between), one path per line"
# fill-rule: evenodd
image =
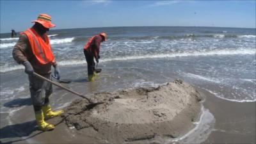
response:
M44 121L44 115L43 113L36 113L36 123L38 125L38 128L42 131L51 131L55 127L52 124L48 124L47 122Z

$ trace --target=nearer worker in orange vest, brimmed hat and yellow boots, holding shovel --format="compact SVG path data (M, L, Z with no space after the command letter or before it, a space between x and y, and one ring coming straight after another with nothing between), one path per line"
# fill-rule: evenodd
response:
M54 76L60 79L60 70L51 49L47 31L55 27L51 16L40 14L32 28L20 33L19 41L14 46L13 58L17 63L24 65L28 74L30 96L35 110L38 128L42 131L54 129L54 125L47 124L45 118L61 115L63 111L52 111L49 97L52 95L52 84L39 79L34 72L51 79L51 67L54 67Z

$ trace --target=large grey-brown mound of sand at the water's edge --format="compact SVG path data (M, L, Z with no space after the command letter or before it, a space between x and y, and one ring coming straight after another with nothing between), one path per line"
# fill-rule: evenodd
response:
M192 129L200 113L200 94L180 80L157 88L136 88L92 95L65 109L68 127L102 143L147 143L176 138ZM163 141L162 141L163 142Z

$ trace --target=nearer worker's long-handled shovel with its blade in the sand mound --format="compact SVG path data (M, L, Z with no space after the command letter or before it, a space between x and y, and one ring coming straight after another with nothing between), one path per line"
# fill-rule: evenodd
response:
M33 72L33 74L34 74L36 77L39 77L40 79L43 79L43 80L45 80L45 81L48 81L49 83L52 83L52 84L54 84L54 85L56 85L56 86L58 86L58 87L60 87L60 88L63 88L64 90L67 90L67 91L70 92L70 93L74 93L75 95L77 95L77 96L79 96L79 97L82 97L83 99L88 100L88 102L90 102L90 104L97 105L97 104L103 104L103 103L104 103L104 102L92 102L92 100L91 100L91 99L88 99L88 97L85 97L84 95L81 95L80 93L74 92L74 91L72 91L72 90L66 88L65 86L62 86L61 84L56 83L55 81L51 81L50 79L47 79L47 78L41 76L40 74L36 74L35 72Z

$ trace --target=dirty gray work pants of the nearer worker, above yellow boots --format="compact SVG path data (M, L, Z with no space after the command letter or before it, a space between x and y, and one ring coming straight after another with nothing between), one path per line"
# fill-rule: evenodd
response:
M51 74L44 75L44 77L51 79ZM33 106L41 108L45 105L45 99L52 94L52 84L31 74L29 75L29 90Z

